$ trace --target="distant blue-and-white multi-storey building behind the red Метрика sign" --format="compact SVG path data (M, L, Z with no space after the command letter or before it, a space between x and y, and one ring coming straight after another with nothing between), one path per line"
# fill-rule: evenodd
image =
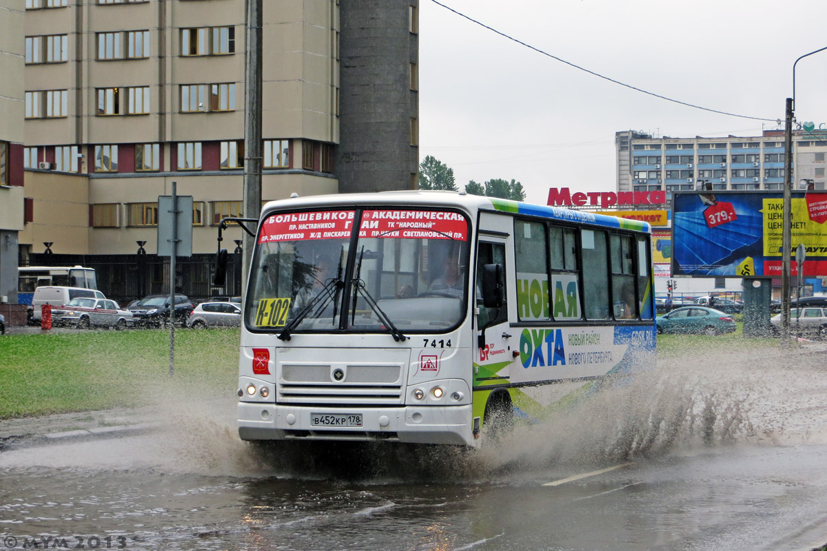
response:
M715 190L782 190L784 131L726 138L655 138L643 132L615 133L619 191L669 192L696 189L699 182ZM827 133L793 135L795 188L801 180L825 189Z

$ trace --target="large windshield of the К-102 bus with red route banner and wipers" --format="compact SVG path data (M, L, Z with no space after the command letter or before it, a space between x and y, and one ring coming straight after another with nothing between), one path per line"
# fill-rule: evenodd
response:
M246 324L268 332L442 332L465 315L468 235L466 216L448 210L266 216Z

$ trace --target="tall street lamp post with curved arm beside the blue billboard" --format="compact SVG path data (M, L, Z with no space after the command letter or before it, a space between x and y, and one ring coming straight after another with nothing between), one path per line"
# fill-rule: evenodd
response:
M784 225L782 227L782 278L781 278L781 316L782 344L790 344L790 275L792 253L791 246L791 190L792 190L792 121L796 109L796 64L808 55L827 50L827 46L802 55L792 64L792 97L786 98L786 116L784 123Z

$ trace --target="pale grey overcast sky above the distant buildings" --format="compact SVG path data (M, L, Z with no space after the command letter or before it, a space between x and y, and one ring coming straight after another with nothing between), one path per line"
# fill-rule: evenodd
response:
M469 180L615 188L614 132L760 135L783 128L792 64L827 46L825 0L419 0L419 154ZM796 66L796 120L827 122L827 50Z

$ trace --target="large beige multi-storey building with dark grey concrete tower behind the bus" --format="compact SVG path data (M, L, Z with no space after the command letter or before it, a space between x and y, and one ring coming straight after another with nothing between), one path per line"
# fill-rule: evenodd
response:
M232 270L210 285L209 261L219 220L257 215L241 201L245 2L25 4L22 264L90 265L124 300L167 291L157 197L175 182L194 200L175 287L237 292ZM262 20L262 200L414 188L417 0L267 0Z

